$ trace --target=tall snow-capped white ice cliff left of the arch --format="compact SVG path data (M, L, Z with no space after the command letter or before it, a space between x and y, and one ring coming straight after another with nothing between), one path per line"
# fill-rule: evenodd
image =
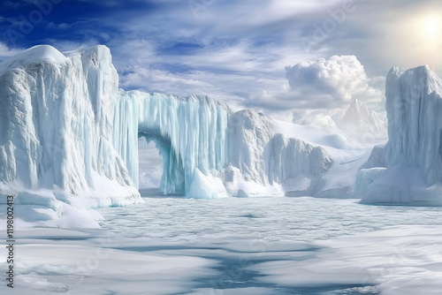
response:
M5 61L0 72L3 194L53 210L41 219L62 216L60 202L88 208L141 201L113 145L118 74L108 48L65 57L38 46Z

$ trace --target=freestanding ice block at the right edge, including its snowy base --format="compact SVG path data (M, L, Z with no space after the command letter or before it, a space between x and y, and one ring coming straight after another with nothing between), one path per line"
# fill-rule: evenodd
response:
M362 202L442 205L442 80L428 66L393 68L385 95L386 170Z

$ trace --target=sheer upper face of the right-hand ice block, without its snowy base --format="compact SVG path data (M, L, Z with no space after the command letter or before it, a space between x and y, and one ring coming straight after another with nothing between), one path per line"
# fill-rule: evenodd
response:
M392 69L387 86L387 163L418 168L433 185L442 176L442 80L428 66L403 73Z

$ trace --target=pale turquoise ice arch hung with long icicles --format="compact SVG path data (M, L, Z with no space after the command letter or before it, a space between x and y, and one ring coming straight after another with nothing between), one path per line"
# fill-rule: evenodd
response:
M141 136L156 141L163 157L164 193L187 195L195 180L227 164L228 117L232 110L225 102L198 95L180 98L139 91L121 90L120 95L114 118L114 146L137 187L137 140Z

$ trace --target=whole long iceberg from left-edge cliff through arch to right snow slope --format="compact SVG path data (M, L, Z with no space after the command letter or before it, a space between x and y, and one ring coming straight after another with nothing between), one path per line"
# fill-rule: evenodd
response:
M27 206L22 216L62 223L66 212L142 202L140 137L163 158L161 190L189 198L347 192L368 157L346 154L340 134L207 96L118 89L105 46L41 45L0 64L0 194ZM330 170L346 180L327 180Z

